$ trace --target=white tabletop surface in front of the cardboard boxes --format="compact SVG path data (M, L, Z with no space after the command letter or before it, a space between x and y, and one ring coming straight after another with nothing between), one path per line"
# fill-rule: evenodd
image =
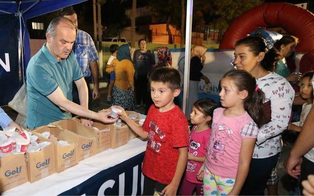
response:
M79 162L60 173L54 173L34 183L26 182L2 193L8 195L58 195L79 185L95 174L126 161L146 150L147 142L135 138L116 149L107 149Z

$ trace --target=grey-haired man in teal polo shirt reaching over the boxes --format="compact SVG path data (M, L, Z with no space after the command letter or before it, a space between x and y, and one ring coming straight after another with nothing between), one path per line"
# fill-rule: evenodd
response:
M108 118L111 111L88 110L87 85L73 52L76 27L67 18L52 20L46 32L47 43L30 59L27 69L27 117L28 128L68 119L71 113L104 123L113 123ZM72 82L78 87L80 105L72 102ZM91 125L91 121L81 119Z

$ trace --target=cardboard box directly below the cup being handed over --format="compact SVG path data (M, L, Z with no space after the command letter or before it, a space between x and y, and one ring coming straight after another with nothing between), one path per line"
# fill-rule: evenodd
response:
M110 124L110 148L126 145L129 141L130 128L125 123L121 127Z

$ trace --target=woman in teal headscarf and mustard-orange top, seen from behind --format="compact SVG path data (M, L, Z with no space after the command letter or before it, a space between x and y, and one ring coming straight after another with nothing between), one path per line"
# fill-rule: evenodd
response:
M115 62L114 62L115 61ZM112 89L112 105L119 105L125 110L134 111L134 67L131 61L130 47L128 44L118 48L114 72L116 81Z

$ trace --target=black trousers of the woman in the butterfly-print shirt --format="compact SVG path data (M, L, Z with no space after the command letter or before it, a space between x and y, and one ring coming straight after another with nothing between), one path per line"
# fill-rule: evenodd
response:
M278 156L256 159L253 158L250 164L250 171L239 195L241 196L263 196L268 178L272 169L276 166Z

